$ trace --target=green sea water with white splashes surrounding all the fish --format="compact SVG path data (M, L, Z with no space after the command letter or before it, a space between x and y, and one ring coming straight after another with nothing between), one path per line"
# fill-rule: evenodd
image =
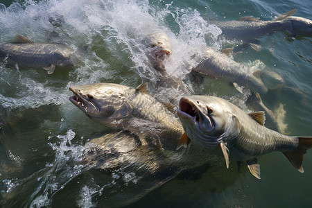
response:
M17 3L18 2L18 3ZM68 88L96 82L132 87L155 85L144 47L133 31L158 26L170 37L173 55L165 65L170 76L189 85L189 94L214 94L236 101L244 110L245 94L206 78L192 85L187 73L200 60L204 46L222 49L239 42L220 38L211 20L233 20L252 15L270 20L293 8L295 15L312 19L311 1L1 1L0 42L16 34L35 42L64 42L87 48L82 67L48 75L43 69L22 70L0 64L0 205L1 207L105 207L110 191L130 194L139 184L135 173L115 170L104 174L79 165L83 146L105 127L87 118L69 101ZM55 20L54 26L50 23ZM49 21L50 19L50 21ZM247 49L236 62L279 73L286 84L304 92L283 94L290 135L311 136L311 38L286 40L283 33L261 37L261 51ZM259 63L260 60L261 62ZM162 101L177 102L176 89L151 89ZM277 103L267 101L274 109ZM222 158L220 158L222 161ZM261 180L234 162L199 168L166 182L130 201L131 207L307 207L311 205L312 153L301 174L281 153L260 158ZM116 188L116 184L119 188Z

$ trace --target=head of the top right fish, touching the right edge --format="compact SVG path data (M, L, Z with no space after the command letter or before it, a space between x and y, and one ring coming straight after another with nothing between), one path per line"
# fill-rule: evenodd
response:
M287 18L291 22L292 35L301 37L312 37L312 21L304 17L291 16Z

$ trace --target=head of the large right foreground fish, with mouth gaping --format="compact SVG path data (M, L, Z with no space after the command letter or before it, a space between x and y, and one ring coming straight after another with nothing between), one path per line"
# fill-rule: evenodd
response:
M228 102L216 96L184 96L177 111L189 139L212 148L234 132L234 114Z

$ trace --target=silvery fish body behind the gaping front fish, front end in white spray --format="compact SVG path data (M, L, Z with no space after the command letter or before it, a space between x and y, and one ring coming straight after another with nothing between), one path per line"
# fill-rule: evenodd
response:
M195 71L201 76L232 83L239 92L242 92L241 87L243 86L254 93L258 92L264 96L268 94L268 87L262 80L254 76L254 73L248 72L242 64L211 47L205 47L203 53L203 60L191 71Z

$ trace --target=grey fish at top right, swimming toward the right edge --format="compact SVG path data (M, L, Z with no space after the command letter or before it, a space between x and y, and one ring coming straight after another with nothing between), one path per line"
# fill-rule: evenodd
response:
M269 21L243 17L237 21L211 21L211 24L218 26L222 35L228 40L243 42L254 42L263 35L272 35L277 31L286 32L291 37L311 37L312 21L304 17L292 16L296 11L296 9L291 10Z

